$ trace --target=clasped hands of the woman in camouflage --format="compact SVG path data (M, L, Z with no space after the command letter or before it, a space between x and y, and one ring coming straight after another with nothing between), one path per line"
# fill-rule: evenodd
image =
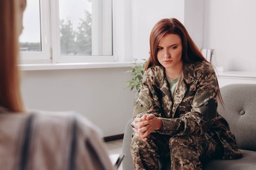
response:
M145 114L141 118L135 118L132 122L133 131L137 134L136 137L146 141L148 135L155 130L161 129L161 118L156 117L154 114Z

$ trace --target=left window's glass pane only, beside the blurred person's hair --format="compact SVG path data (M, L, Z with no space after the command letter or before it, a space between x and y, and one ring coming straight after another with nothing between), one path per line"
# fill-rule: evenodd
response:
M28 0L23 18L24 29L19 37L20 51L41 51L40 2Z

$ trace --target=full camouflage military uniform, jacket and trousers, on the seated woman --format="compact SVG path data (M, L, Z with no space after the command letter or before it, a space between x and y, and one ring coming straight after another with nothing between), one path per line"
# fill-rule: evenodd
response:
M217 112L217 77L210 63L184 63L173 98L165 69L144 73L133 117L154 114L163 126L147 141L133 135L131 153L136 169L158 169L158 158L171 156L171 169L202 169L203 158L240 158L228 123Z

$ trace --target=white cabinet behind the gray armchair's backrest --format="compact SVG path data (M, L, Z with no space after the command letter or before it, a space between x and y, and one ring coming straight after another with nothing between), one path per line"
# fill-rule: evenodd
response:
M220 88L228 84L256 84L256 72L224 71L216 74Z

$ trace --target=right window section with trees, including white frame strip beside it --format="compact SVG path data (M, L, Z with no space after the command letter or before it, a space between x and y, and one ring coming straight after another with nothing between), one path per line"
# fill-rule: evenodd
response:
M61 0L59 16L61 56L112 55L112 1Z

